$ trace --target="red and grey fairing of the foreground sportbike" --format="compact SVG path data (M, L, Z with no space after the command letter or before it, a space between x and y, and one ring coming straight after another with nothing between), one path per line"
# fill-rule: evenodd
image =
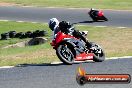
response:
M84 41L73 36L58 32L56 39L52 41L51 45L56 49L60 43L69 43L75 50L75 61L93 60L92 53L86 53L86 46Z

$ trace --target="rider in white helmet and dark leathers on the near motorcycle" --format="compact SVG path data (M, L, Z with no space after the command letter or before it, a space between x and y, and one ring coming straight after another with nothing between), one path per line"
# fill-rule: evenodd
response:
M57 18L51 18L49 21L49 28L53 31L53 39L56 37L56 34L59 31L61 31L65 34L72 35L76 38L81 38L86 43L87 47L91 47L91 44L82 35L82 33L78 30L75 30L75 28L69 22L66 21L59 22Z

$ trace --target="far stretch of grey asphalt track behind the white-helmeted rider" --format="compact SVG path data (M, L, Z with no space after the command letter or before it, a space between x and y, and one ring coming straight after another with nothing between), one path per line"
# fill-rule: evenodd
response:
M37 7L0 7L0 19L15 21L48 22L52 17L60 21L66 20L72 23L86 25L132 27L132 11L105 10L104 14L108 22L91 23L87 12L89 9L65 9L65 8L37 8Z

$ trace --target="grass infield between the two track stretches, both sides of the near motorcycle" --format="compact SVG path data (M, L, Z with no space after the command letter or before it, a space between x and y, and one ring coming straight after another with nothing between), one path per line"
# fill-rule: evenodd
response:
M44 29L48 32L46 37L50 37L51 31L47 24L42 23L17 23L17 22L0 22L0 33L15 30L17 32L34 31ZM114 27L96 28L92 26L78 26L78 30L88 30L89 41L100 44L107 57L116 56L132 56L132 29L117 29ZM17 65L17 64L41 64L59 61L55 54L55 50L50 46L50 41L42 45L27 46L23 48L7 48L2 47L14 44L25 39L0 40L0 66Z

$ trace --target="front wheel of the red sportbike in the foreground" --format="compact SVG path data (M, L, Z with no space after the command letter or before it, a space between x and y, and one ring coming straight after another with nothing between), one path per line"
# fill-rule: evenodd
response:
M74 62L75 51L71 44L62 43L56 49L58 58L64 63L71 65Z

